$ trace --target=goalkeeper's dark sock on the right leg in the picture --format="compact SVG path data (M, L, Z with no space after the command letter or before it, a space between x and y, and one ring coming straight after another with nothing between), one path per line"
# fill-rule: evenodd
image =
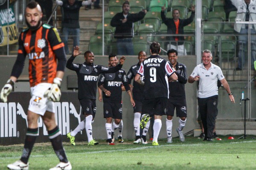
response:
M58 156L58 159L61 162L67 163L68 162L67 156L62 145L61 132L58 126L56 126L52 130L48 130L48 134L49 134L49 139L52 142L52 147L54 149L55 154Z

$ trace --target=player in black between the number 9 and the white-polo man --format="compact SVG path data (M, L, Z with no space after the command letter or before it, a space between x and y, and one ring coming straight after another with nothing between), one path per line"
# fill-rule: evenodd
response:
M169 99L167 99L166 105L166 132L167 132L167 143L172 143L172 117L176 108L176 115L180 117L179 127L176 128L179 134L180 141L184 142L185 137L182 129L186 124L187 107L186 107L186 94L185 84L187 83L186 65L178 63L178 52L175 49L167 51L168 59L177 71L177 81L169 81Z

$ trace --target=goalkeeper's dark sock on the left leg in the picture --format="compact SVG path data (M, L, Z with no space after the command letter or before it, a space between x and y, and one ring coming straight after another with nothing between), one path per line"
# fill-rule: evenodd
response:
M28 163L29 156L35 144L35 139L37 138L37 136L38 136L38 128L36 129L28 128L25 142L24 142L23 153L20 159L20 161L23 161L25 164Z

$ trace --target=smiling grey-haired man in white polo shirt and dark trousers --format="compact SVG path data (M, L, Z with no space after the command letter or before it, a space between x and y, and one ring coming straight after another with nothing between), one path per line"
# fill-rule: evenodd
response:
M235 103L234 96L230 91L227 80L224 78L221 68L212 64L212 52L204 50L202 54L203 63L197 65L189 76L189 83L199 81L198 105L201 121L204 126L204 141L212 142L215 119L218 114L218 79L226 89L231 102Z

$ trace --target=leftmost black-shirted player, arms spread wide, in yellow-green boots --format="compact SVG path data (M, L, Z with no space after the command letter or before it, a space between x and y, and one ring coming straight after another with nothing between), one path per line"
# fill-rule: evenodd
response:
M67 138L70 139L70 144L75 145L75 136L78 132L85 128L88 145L99 144L92 136L92 122L96 114L96 90L97 80L101 73L115 73L122 68L125 57L120 58L120 62L116 67L105 67L103 65L93 65L94 54L92 51L84 53L85 62L82 64L73 63L76 56L81 54L79 46L74 47L73 55L67 60L66 67L76 71L78 78L78 99L81 104L82 113L85 119L70 133L67 133Z

